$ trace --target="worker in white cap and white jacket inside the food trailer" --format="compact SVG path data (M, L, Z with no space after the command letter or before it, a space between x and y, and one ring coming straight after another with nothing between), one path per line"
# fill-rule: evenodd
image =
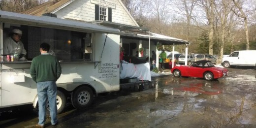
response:
M27 51L24 48L22 41L20 40L22 36L22 31L19 29L12 30L11 36L8 37L3 42L3 54L4 55L14 55L16 54L16 59L25 61Z

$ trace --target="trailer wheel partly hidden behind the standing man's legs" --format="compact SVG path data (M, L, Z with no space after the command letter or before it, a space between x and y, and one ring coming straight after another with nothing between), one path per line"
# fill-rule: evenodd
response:
M57 91L57 96L56 96L56 102L57 102L57 114L60 114L63 112L65 105L66 105L66 96L64 95L63 92ZM47 100L46 103L46 115L50 115L50 106L49 106L49 101Z

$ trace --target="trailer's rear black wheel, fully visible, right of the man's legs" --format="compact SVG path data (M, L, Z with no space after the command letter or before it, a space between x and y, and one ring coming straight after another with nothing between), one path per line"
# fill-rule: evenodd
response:
M93 91L87 86L76 89L72 95L72 105L77 109L88 107L93 102Z

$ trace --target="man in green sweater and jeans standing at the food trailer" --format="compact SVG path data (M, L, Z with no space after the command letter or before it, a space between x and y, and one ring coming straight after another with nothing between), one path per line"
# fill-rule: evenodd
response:
M48 53L49 50L50 45L48 43L42 43L40 45L41 55L33 58L30 68L32 79L37 83L39 122L36 126L40 128L44 128L46 121L45 107L47 99L50 104L51 123L53 126L58 124L56 81L60 78L62 69L58 59Z

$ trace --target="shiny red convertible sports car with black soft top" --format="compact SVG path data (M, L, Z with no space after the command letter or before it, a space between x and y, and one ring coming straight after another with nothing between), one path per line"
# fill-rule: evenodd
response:
M205 80L218 79L228 75L228 70L224 67L217 67L211 61L197 61L191 65L176 65L171 69L175 77L198 77Z

